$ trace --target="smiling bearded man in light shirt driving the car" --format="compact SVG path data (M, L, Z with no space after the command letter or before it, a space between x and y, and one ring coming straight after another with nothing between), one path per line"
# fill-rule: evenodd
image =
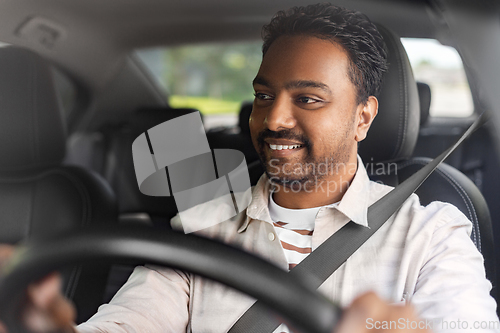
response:
M250 128L266 174L245 212L200 234L289 269L350 220L368 227L367 207L390 190L370 182L357 157L357 144L377 114L386 55L365 16L327 4L280 12L264 31ZM172 224L180 228L198 219L174 218ZM470 222L456 208L408 199L320 287L348 307L339 331L415 331L383 323L419 321L416 314L433 323L498 320L468 232ZM29 291L32 317L71 313L46 291L55 279ZM226 332L253 302L189 273L138 267L111 303L77 329ZM388 303L412 303L415 310ZM442 324L430 328L445 331ZM287 331L282 325L276 332Z

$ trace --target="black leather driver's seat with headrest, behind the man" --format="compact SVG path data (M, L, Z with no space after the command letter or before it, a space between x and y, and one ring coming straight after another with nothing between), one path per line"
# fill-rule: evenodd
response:
M379 27L379 30L388 48L389 71L384 77L379 96L379 114L367 138L361 142L359 154L364 163L372 166L377 163L397 163L397 174L377 175L372 172L374 179L395 186L431 159L412 157L420 128L421 110L406 51L398 36L384 27ZM432 201L449 202L472 221L471 239L485 258L487 277L496 282L491 218L486 201L474 183L457 169L442 164L416 193L423 205Z

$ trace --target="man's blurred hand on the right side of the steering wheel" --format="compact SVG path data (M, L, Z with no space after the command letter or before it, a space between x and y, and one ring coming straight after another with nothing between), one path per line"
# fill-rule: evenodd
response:
M416 325L412 328L407 323ZM418 323L422 324L422 328L418 327ZM356 298L345 310L336 333L431 333L423 323L425 321L417 317L411 305L390 305L375 293L369 292Z

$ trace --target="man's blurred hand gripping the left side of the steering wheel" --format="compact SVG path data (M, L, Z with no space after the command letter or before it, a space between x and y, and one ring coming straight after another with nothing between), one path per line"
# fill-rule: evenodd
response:
M14 250L14 246L0 245L0 273ZM21 309L21 318L28 329L33 332L74 332L76 311L60 289L61 277L57 273L28 287L26 302ZM7 329L0 322L0 333L6 332Z

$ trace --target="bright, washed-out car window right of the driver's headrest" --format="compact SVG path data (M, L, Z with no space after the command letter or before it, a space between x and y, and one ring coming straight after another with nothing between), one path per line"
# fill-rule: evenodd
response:
M435 39L402 38L417 81L431 88L431 117L468 117L474 112L462 59Z

